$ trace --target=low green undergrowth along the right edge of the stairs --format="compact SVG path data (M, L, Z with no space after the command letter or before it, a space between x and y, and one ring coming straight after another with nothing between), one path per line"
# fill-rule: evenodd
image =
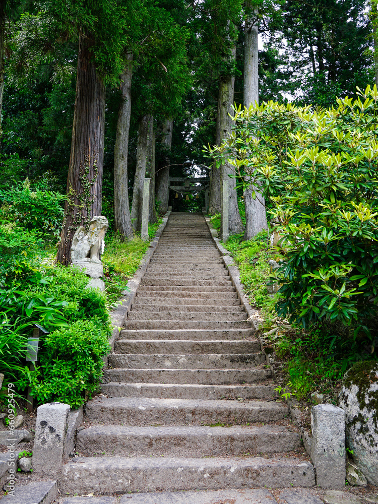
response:
M220 230L220 214L211 216L212 226ZM240 280L249 303L259 308L264 319L260 330L271 333L267 341L282 363L283 390L288 388L299 400L308 399L314 391L323 393L329 402L337 403L341 380L345 371L356 360L362 358L348 351L350 345L342 345L345 335L338 334L334 326L312 326L303 330L277 317L274 297L267 292L272 251L267 245L267 232L243 241L243 234L231 235L222 245L238 266ZM272 328L279 327L277 331ZM339 331L340 332L340 331Z

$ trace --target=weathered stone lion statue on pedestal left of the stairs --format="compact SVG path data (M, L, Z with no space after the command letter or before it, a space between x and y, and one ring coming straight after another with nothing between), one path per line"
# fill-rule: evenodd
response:
M93 217L89 223L89 230L80 226L74 234L71 247L71 261L73 266L91 277L89 286L105 290L102 280L103 268L101 254L104 251L104 237L109 227L109 222L103 215Z

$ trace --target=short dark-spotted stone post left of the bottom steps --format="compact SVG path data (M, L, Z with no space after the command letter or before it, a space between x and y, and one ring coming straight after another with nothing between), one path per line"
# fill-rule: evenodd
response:
M38 406L33 448L33 471L56 478L61 471L70 406L47 403Z

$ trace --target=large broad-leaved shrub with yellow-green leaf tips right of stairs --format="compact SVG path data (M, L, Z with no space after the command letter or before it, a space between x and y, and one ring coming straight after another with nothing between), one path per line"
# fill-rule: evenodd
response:
M331 109L264 103L235 109L231 158L244 186L260 184L281 236L278 314L303 327L354 324L376 345L378 302L378 91ZM362 98L362 101L361 101ZM368 327L369 325L369 327Z

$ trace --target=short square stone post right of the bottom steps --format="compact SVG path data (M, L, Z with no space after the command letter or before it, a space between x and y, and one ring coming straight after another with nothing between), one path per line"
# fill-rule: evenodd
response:
M333 404L311 410L311 460L322 488L345 487L345 413Z

